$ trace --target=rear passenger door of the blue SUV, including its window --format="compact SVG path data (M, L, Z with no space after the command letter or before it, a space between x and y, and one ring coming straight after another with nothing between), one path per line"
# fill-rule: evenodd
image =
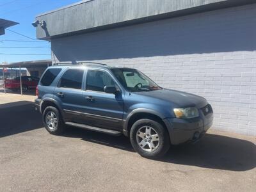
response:
M63 109L65 121L83 123L83 68L68 68L54 89L54 98Z

